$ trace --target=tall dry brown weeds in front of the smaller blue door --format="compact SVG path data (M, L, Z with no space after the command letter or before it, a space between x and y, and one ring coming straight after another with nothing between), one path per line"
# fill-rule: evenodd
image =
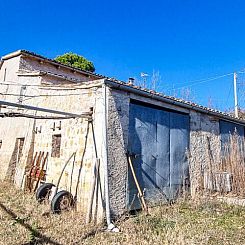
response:
M206 184L204 189L217 191L226 195L228 192L232 195L245 196L245 142L244 139L234 133L230 135L228 143L220 150L220 159L214 162L211 150L207 151L206 162L210 163L205 169ZM228 178L227 178L228 177Z

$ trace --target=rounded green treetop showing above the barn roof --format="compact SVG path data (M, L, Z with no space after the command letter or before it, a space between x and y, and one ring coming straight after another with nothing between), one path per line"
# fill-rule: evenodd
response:
M69 65L75 68L79 68L85 71L94 72L94 64L91 61L88 61L83 56L69 52L63 55L59 55L55 58L56 61Z

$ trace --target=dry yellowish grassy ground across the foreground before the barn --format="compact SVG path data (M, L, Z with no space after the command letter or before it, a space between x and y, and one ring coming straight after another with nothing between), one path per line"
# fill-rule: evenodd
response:
M80 213L49 213L30 194L0 182L0 244L245 244L245 208L180 201L122 218L120 233L85 225Z

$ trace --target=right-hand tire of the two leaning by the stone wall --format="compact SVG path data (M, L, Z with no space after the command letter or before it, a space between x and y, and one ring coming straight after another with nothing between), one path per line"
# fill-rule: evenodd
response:
M53 213L61 213L70 210L74 204L73 196L68 191L58 192L51 201L51 210Z

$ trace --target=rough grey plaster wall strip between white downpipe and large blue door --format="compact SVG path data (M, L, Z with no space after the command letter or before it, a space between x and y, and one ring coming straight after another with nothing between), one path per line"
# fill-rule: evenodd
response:
M109 90L108 166L110 207L114 216L126 211L129 102L127 93Z

